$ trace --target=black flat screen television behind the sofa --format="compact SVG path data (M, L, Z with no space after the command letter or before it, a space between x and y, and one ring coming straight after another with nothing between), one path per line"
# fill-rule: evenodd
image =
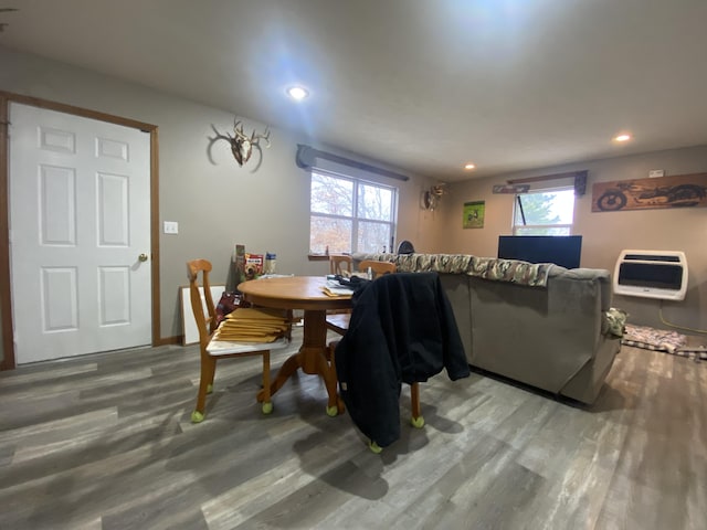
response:
M529 263L555 263L578 268L582 254L581 235L499 235L498 257Z

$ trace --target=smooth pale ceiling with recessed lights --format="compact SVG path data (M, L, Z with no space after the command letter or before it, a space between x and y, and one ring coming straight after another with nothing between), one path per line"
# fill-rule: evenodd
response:
M442 181L707 144L707 0L0 0L0 45ZM295 105L285 87L312 97ZM612 144L631 131L627 145ZM466 161L477 166L464 172Z

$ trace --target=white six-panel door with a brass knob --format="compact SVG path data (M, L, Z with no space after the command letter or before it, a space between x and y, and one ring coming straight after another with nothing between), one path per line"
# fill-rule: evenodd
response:
M151 342L150 140L10 104L18 364Z

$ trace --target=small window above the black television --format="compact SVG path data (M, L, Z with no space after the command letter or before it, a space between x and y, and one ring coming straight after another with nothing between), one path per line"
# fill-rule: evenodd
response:
M570 235L574 216L574 188L531 191L516 195L514 235Z

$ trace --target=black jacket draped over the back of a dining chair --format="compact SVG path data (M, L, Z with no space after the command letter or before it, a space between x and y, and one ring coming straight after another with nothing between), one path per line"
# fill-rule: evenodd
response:
M351 321L336 348L341 398L356 426L379 446L400 437L401 382L469 368L436 273L387 274L354 296Z

